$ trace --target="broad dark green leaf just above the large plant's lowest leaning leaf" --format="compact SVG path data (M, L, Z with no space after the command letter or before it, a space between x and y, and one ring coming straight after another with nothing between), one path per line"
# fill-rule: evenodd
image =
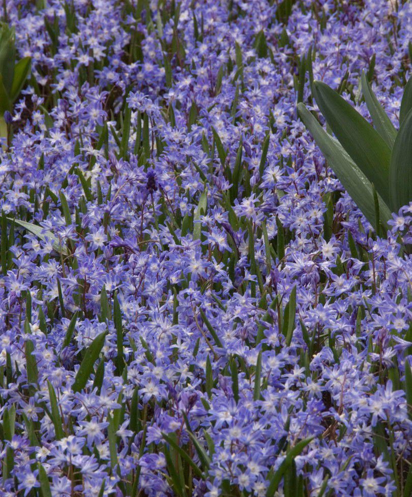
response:
M313 95L329 126L378 194L389 203L391 150L378 132L335 90L325 83L313 83Z

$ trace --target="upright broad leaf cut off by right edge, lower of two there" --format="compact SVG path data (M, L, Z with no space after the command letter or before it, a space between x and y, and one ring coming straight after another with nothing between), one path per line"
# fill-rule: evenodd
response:
M398 211L412 200L412 109L402 122L392 150L391 206Z

